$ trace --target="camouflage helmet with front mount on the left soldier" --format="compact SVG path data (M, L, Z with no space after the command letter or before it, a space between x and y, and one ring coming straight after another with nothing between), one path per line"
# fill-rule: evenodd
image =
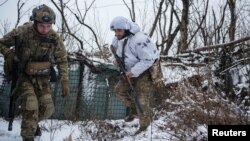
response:
M54 11L45 4L42 4L32 10L31 21L38 23L53 23L55 24L56 15Z

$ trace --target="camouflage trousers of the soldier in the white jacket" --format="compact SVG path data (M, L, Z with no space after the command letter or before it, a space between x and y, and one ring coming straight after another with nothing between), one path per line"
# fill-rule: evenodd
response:
M151 119L150 99L153 94L153 82L148 71L141 74L138 78L132 78L131 82L135 88L136 94L139 99L139 103L143 109L143 114L140 114L137 109L139 116L140 126L148 126ZM130 87L125 79L121 78L115 86L115 93L117 97L127 107L135 107L134 98L129 94Z

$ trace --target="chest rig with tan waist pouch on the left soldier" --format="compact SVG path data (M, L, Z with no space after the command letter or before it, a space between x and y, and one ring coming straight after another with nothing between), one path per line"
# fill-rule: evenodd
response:
M27 75L49 75L56 38L53 33L39 35L32 26L20 37L16 55L20 60L20 71Z

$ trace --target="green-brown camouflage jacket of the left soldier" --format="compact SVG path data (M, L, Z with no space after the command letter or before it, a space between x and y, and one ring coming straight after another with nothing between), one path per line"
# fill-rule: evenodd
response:
M33 23L26 23L0 39L0 52L3 55L12 46L15 46L15 54L19 59L20 73L24 73L28 62L53 61L57 64L61 80L68 80L67 53L63 41L54 30L41 35L34 29Z

